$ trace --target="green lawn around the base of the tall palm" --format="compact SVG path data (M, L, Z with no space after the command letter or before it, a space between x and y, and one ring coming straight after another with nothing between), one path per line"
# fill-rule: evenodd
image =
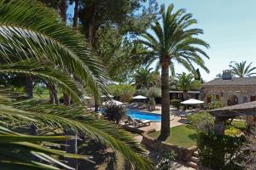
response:
M148 136L156 139L160 131L149 133ZM171 128L171 135L166 139L167 143L189 148L196 144L196 130L189 125L180 125Z

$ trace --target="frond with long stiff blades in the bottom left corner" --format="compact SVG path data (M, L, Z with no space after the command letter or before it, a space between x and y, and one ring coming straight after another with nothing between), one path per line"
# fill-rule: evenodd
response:
M49 148L51 142L55 146L60 146L56 142L66 141L71 137L64 136L29 136L15 133L6 127L0 126L0 166L3 169L59 169L55 165L73 169L61 163L61 161L48 155L55 155L73 159L89 160L89 156L79 156L69 154L65 151ZM51 144L51 145L52 145ZM44 157L44 162L32 161L31 156Z

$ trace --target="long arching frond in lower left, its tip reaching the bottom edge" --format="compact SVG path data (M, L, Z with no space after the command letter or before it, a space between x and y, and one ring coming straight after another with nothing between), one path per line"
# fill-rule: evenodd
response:
M44 105L38 100L27 100L11 106L14 106L15 110L19 111L1 111L1 116L5 120L9 120L9 122L20 122L20 120L25 122L27 119L22 116L26 116L37 120L38 122L32 122L37 127L67 128L78 132L79 135L85 135L109 144L113 147L113 150L120 152L125 160L129 161L134 167L139 167L140 169L153 168L150 161L144 157L145 151L132 139L130 133L119 129L115 124L98 119L78 105ZM6 107L9 108L8 106L3 106L0 109ZM22 116L20 117L20 115ZM26 121L26 123L31 122Z

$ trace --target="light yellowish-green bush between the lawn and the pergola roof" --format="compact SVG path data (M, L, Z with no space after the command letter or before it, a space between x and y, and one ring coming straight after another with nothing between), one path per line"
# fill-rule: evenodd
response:
M213 132L214 117L207 111L201 111L188 116L189 123L200 132Z

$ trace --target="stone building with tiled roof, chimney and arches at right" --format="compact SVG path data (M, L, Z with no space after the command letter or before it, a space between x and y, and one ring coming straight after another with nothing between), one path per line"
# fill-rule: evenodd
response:
M256 101L256 77L232 77L231 71L224 71L222 78L202 84L201 99L206 104L220 100L224 105Z

